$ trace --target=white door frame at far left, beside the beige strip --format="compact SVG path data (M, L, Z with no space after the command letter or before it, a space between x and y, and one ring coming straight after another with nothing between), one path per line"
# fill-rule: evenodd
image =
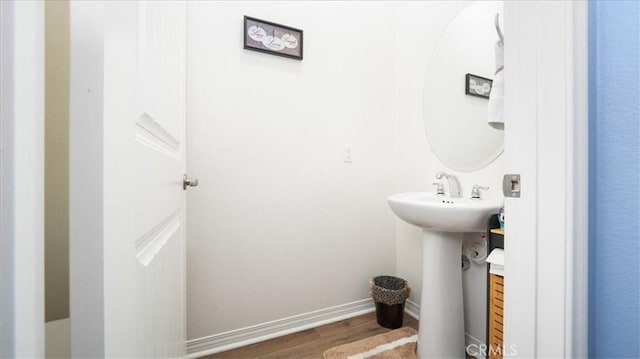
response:
M44 357L44 3L0 1L0 357Z

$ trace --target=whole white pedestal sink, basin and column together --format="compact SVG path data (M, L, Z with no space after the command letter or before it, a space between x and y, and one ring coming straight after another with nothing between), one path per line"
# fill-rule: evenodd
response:
M462 233L484 232L502 199L412 192L389 196L387 201L400 219L423 229L418 358L465 358Z

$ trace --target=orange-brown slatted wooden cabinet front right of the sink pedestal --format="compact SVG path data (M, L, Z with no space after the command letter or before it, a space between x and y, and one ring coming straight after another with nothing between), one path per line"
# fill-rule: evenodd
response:
M488 333L488 357L502 358L502 348L504 346L502 335L503 314L504 313L504 278L489 275L489 333Z

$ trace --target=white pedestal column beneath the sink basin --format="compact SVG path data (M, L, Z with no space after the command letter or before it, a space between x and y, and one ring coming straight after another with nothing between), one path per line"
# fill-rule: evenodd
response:
M422 233L418 358L465 358L462 233Z

